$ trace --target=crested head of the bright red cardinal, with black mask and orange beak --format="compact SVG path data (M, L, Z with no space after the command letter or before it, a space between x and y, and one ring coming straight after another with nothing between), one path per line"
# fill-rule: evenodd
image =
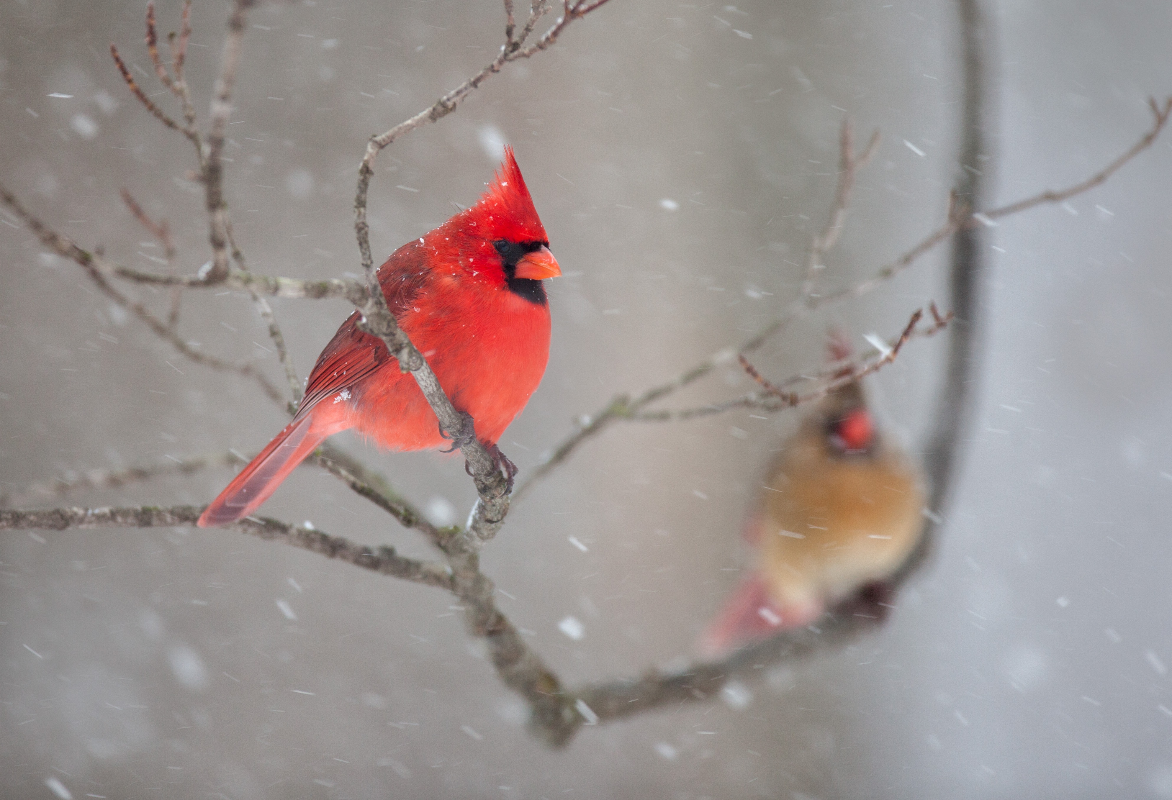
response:
M476 205L434 234L452 235L464 272L533 303L545 305L541 281L561 274L533 207L512 148Z

